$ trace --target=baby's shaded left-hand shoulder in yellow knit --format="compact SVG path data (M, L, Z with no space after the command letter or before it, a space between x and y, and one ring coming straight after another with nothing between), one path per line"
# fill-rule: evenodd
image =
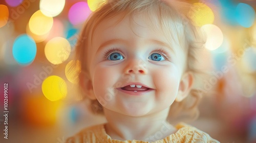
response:
M74 136L69 137L66 143L75 142L99 142L98 139L104 138L104 124L91 126L82 129L80 132L76 133Z

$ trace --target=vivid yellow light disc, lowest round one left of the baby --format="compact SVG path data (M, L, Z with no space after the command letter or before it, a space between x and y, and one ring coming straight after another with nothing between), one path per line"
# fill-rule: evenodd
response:
M42 93L50 101L58 101L67 96L67 84L58 76L50 76L42 82Z

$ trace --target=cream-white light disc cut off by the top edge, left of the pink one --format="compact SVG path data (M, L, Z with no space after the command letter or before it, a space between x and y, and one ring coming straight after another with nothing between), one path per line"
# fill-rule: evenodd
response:
M65 0L40 0L39 6L43 14L54 17L62 12L65 6Z

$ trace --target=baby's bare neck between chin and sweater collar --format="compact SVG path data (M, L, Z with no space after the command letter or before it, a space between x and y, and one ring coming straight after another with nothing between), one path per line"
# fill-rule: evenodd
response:
M120 114L104 108L106 133L112 139L156 141L176 132L166 121L169 109L140 117Z

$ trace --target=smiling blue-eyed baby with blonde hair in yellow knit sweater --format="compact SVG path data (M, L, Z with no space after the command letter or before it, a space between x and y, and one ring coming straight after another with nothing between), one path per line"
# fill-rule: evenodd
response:
M194 111L197 50L204 38L174 0L113 0L87 20L77 44L80 85L107 123L67 142L219 142L169 122ZM194 112L197 115L197 112Z

